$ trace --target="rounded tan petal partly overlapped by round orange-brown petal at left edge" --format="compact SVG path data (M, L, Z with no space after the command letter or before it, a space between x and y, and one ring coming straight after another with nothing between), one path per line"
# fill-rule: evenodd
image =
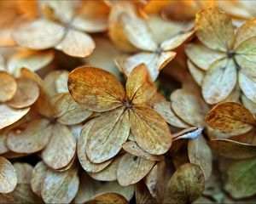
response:
M16 82L17 90L15 95L7 104L17 109L33 105L39 97L39 87L37 82L26 77L18 78Z

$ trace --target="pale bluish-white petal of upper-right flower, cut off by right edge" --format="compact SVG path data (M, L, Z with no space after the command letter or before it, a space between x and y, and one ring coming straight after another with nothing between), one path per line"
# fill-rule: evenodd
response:
M253 103L256 103L256 77L248 77L240 71L238 82L243 94L245 94L248 99L252 100Z

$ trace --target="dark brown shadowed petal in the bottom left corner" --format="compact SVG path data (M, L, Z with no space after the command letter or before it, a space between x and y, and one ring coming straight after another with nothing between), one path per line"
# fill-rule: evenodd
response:
M17 184L14 191L0 195L1 203L43 203L42 199L33 193L30 184Z

